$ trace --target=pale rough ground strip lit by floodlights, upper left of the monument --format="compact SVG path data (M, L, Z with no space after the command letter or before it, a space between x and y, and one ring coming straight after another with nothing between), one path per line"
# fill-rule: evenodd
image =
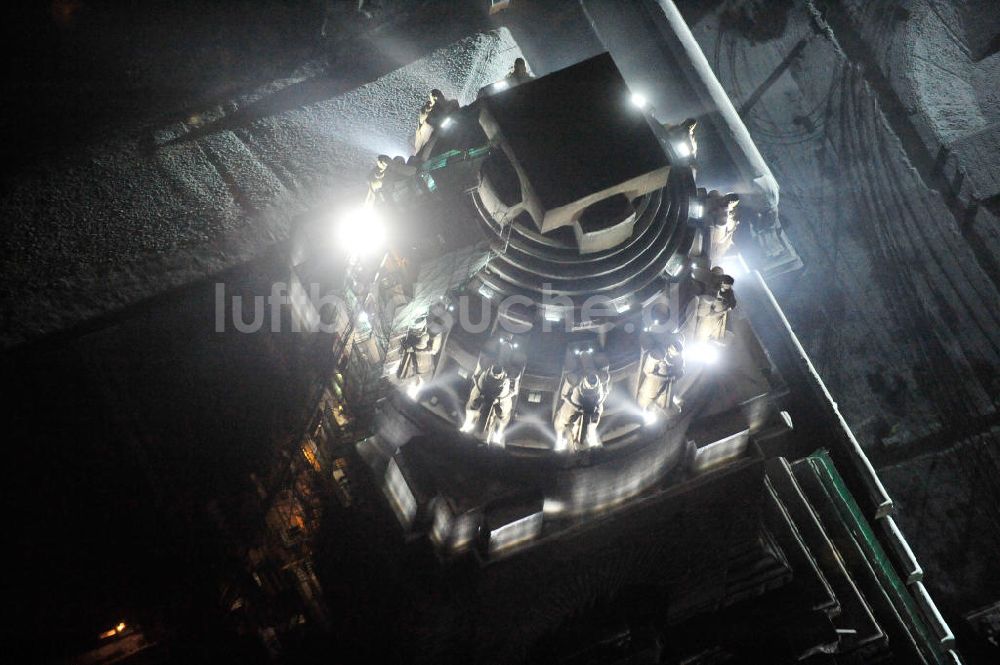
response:
M363 193L375 155L409 154L427 91L468 103L521 55L505 29L354 90L292 76L24 173L0 199L4 346L201 279L281 242L290 220Z

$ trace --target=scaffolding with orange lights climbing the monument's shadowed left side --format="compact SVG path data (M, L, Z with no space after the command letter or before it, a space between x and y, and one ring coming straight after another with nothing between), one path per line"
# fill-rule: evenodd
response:
M242 546L248 576L233 580L222 602L241 616L256 615L252 624L266 624L274 653L306 617L329 626L315 573L316 536L331 505L353 503L350 459L354 444L371 434L385 388L381 370L398 305L399 267L392 256L371 275L347 266L337 294L342 304L331 322L337 332L327 333L332 341L313 361L320 365L303 427L278 447L264 477L251 476L263 530Z

